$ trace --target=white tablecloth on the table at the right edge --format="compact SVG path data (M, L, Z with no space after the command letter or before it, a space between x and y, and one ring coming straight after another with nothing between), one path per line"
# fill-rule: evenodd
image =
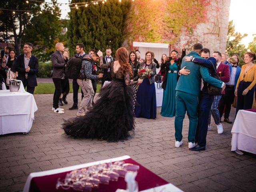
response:
M239 110L231 133L231 151L256 154L256 112Z

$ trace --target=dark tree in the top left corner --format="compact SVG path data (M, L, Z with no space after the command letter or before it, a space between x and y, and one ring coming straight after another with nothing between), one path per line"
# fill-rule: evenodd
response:
M2 0L0 7L9 9L0 12L1 38L14 38L16 52L19 55L24 30L30 24L30 19L34 13L40 10L40 4L26 3L24 0ZM31 12L13 12L10 10L30 10Z

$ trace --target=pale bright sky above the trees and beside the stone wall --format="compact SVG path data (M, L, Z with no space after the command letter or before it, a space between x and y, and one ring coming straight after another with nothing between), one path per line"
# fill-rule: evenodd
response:
M86 0L85 0L86 1ZM51 2L46 0L46 2ZM68 0L58 0L58 3L69 3ZM253 34L256 34L255 25L256 0L231 0L229 20L233 20L236 32L247 33L248 36L242 39L242 44L246 47L253 40ZM63 4L61 7L61 18L67 18L70 8Z

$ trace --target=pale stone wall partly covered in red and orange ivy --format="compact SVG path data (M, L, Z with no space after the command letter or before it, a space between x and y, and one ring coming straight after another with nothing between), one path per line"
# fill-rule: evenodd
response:
M144 2L145 4L150 3L150 0L142 0L142 1L145 1ZM138 2L137 5L132 6L132 9L135 10L135 11L131 10L131 12L133 11L132 14L133 15L138 14L137 16L133 16L133 20L134 18L139 19L141 17L141 15L139 15L140 13L138 13L138 6L140 6L141 9L143 8L142 6L145 6L142 3L142 1ZM170 5L171 3L173 3L175 4L175 6L177 3L175 0L164 0L161 2L167 5L168 4ZM193 1L193 2L195 3L196 1ZM123 45L131 50L133 41L168 43L170 44L171 49L176 49L180 51L181 43L185 42L187 50L190 51L193 44L200 42L203 44L205 48L210 49L211 53L213 51L225 52L227 34L228 34L228 16L229 16L229 9L230 9L230 0L201 0L201 1L198 0L198 2L200 2L201 4L200 6L202 6L201 8L203 11L200 13L201 15L198 17L198 21L196 21L197 22L196 25L194 25L195 24L194 22L190 26L189 22L184 22L183 20L182 22L186 24L184 24L183 27L178 32L176 30L176 33L171 34L172 31L175 32L173 27L177 26L177 21L175 21L177 20L177 18L174 18L172 15L173 13L170 12L170 18L173 19L173 22L176 22L176 24L171 28L166 28L168 24L167 25L165 24L166 18L164 18L164 16L168 15L169 12L168 10L166 9L164 10L163 8L162 12L164 14L160 14L161 12L158 12L159 17L157 18L154 14L149 14L147 16L148 23L150 23L150 20L152 20L152 18L150 18L151 15L154 15L155 19L159 21L159 22L156 21L155 25L159 26L159 23L162 23L163 25L165 25L164 31L169 32L168 36L166 36L166 33L165 34L163 33L162 39L159 40L159 34L161 33L161 31L159 30L158 33L155 34L156 36L155 38L153 33L152 34L153 38L151 37L151 39L149 39L144 35L145 33L142 33L140 32L140 30L137 30L135 35L134 35L134 32L132 32L132 35L130 36L128 34L126 41L124 42ZM156 1L152 0L152 3L156 3ZM179 9L180 12L188 11L187 7L184 8L184 6L188 6L188 4L186 5L180 4L180 6L183 6ZM160 7L166 7L166 5L161 5ZM195 7L195 9L196 8L198 10L198 6ZM195 15L193 13L193 7L189 8L189 11L191 11L189 14L191 15L191 17L193 17ZM152 12L154 12L154 10L152 10ZM186 15L188 16L189 14L187 13ZM186 18L187 21L189 19L191 21L191 18L188 18L188 17ZM129 20L128 18L128 28L126 31L129 31L132 28L131 22L133 22L133 20L132 19ZM140 28L140 26L144 27L143 25L138 25L138 20L137 20L137 24L136 24L137 29ZM150 27L150 25L148 26ZM158 28L161 28L161 25ZM147 28L145 28L145 30L147 30ZM150 28L148 28L148 30L150 30Z

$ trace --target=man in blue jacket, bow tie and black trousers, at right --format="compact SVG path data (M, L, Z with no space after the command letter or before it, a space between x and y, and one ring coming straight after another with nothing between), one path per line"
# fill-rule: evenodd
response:
M220 101L220 118L222 117L224 107L225 108L225 114L224 114L224 122L232 124L232 122L229 120L229 114L231 110L231 105L235 98L235 89L236 89L236 83L239 78L241 68L238 66L239 59L238 55L232 55L231 58L229 58L230 63L228 63L229 70L230 70L230 80L226 83L226 89L225 89L225 95Z

